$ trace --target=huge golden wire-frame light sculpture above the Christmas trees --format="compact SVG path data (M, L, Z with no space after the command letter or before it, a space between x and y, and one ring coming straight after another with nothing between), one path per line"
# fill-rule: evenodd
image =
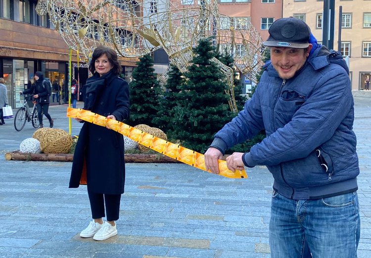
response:
M116 49L123 57L163 48L184 73L192 47L213 37L219 51L231 53L235 66L253 82L262 65L257 30L248 18L220 14L216 0L39 0L36 11L47 13L67 45L87 58L98 45ZM230 107L236 112L232 69L213 61L227 77Z

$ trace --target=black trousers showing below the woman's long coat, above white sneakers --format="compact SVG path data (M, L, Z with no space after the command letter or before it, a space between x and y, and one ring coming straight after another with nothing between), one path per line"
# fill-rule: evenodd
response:
M93 218L104 217L104 204L107 221L119 219L121 194L100 194L88 191Z

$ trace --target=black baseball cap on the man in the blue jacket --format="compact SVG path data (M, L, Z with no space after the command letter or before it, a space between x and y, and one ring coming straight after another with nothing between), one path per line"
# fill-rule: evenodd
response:
M302 20L296 18L281 18L272 23L269 28L269 38L263 45L292 48L309 46L311 30Z

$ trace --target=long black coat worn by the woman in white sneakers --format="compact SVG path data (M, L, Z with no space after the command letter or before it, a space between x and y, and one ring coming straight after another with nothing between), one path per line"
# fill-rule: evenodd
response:
M129 85L126 81L111 72L100 78L95 73L87 80L86 88L84 109L105 117L113 115L121 122L129 117ZM91 98L94 94L96 96ZM73 157L70 188L79 187L84 160L88 191L103 194L124 192L124 139L120 133L84 123Z

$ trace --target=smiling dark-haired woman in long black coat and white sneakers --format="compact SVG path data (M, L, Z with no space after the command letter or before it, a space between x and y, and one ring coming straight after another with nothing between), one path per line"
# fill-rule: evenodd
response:
M116 52L98 46L89 70L93 77L87 80L84 109L118 121L127 119L129 85L118 77L121 66ZM124 139L120 133L93 123L83 125L73 157L69 187L79 187L85 175L93 221L80 236L105 240L117 234L115 220L119 218L121 194L124 193ZM107 221L103 223L105 212Z

